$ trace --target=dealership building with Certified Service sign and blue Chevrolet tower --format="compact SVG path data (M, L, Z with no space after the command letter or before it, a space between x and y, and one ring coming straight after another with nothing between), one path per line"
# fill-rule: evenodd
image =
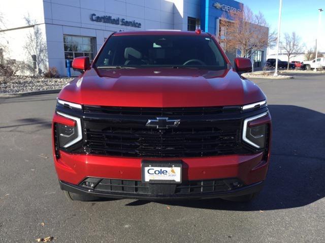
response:
M37 26L47 47L44 66L67 75L66 60L80 56L92 60L115 31L201 28L220 37L224 32L220 20L242 9L243 4L233 0L11 0L0 10L5 22L0 41L7 45L5 57L32 63L24 43ZM236 54L228 56L233 60ZM266 49L251 58L256 67L262 66Z

